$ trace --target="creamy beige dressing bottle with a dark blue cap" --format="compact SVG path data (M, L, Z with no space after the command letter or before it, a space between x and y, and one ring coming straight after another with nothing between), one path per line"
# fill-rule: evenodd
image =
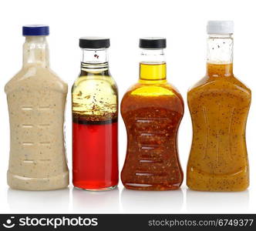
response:
M68 85L49 69L47 25L23 26L23 66L6 85L10 120L8 185L50 190L69 186L63 134Z

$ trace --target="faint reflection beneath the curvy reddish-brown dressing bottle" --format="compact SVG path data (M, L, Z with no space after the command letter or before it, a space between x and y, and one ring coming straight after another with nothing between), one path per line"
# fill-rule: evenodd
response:
M123 189L122 213L179 213L184 203L182 189L173 191L139 191Z

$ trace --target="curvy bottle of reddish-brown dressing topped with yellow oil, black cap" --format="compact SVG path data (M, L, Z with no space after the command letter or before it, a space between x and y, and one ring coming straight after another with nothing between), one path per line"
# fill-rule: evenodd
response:
M140 79L122 99L128 141L121 179L127 189L170 190L183 181L177 132L184 101L167 82L165 48L166 39L140 39Z

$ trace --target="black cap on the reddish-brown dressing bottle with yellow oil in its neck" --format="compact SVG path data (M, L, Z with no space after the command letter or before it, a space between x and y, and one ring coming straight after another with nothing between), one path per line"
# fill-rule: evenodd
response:
M140 39L140 48L142 49L165 49L167 39L161 37L147 37Z

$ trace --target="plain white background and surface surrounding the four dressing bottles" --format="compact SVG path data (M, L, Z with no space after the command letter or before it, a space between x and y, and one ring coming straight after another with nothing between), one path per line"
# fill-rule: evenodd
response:
M180 90L185 115L179 133L180 160L186 173L191 143L187 89L205 73L207 20L234 20L234 73L253 92L247 142L251 186L245 192L109 192L69 189L23 192L8 189L9 132L4 86L22 65L22 25L49 24L52 69L69 83L66 146L71 162L70 88L79 74L79 37L109 36L109 65L120 99L138 79L138 42L143 36L167 38L167 78ZM0 213L256 213L255 101L256 14L254 1L235 0L1 0L0 3ZM120 170L126 155L126 132L120 116ZM186 176L186 174L184 174Z

